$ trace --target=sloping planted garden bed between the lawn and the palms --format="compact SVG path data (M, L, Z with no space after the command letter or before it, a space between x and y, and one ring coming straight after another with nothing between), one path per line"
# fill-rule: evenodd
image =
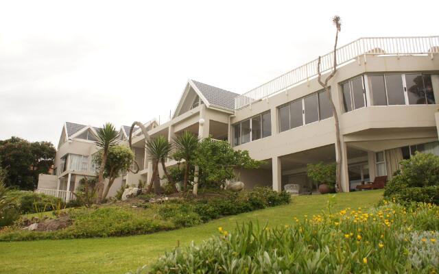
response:
M254 188L239 193L224 191L222 195L214 195L211 198L180 197L161 203L151 203L150 198L148 195L128 202L64 210L60 218L68 221L68 225L60 226L61 229L54 231L23 230L32 222L20 219L14 225L0 231L0 241L150 234L191 227L222 216L282 205L289 203L290 196L285 192L274 192L270 188ZM44 224L47 221L34 218L35 222ZM47 227L47 224L43 227Z

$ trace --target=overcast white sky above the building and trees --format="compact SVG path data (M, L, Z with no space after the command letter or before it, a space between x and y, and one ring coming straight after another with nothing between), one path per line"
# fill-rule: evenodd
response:
M438 35L439 1L1 1L0 140L174 111L187 79L244 93L364 36Z

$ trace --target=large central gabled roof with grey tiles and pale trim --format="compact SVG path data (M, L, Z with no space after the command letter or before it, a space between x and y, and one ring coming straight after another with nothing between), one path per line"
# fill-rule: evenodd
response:
M239 94L189 79L174 111L174 117L180 115L182 105L185 103L191 88L197 93L207 108L219 108L220 110L232 113L235 111L235 97L239 96Z

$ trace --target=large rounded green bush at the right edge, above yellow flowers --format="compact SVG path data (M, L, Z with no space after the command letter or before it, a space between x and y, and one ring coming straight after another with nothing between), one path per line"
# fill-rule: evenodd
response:
M403 202L438 203L438 190L434 186L439 186L439 156L416 152L400 165L401 169L386 184L384 196Z

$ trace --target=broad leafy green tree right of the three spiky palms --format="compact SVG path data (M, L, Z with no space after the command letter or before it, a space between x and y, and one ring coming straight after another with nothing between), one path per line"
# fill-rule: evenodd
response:
M233 149L226 141L209 137L198 145L193 164L200 167L200 182L224 185L235 177L234 169L257 169L263 161L252 159L246 150Z

